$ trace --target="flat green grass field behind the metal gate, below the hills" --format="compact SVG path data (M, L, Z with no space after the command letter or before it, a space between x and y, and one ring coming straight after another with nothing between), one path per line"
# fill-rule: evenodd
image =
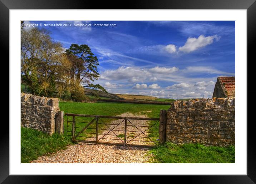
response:
M130 112L133 114L146 114L147 117L158 118L161 109L168 109L169 105L152 105L152 104L130 104L130 103L110 103L110 102L97 102L97 103L81 103L81 102L59 102L59 107L61 111L65 113L74 113L74 114L90 114L90 115L104 115L104 116L118 116L119 114ZM151 111L151 112L147 112ZM104 123L109 123L113 119L101 118ZM80 132L83 127L85 127L93 118L89 117L75 117L76 132ZM72 134L72 117L68 119L67 127L67 116L64 116L64 134ZM87 122L87 123L83 123ZM150 122L152 123L156 122ZM156 124L155 126L158 126ZM96 124L91 124L86 130L85 133L80 134L77 139L84 139L84 137L93 137L95 136ZM103 125L99 124L99 128ZM92 129L89 129L92 128ZM67 132L68 131L68 132ZM158 132L158 128L149 129L151 132ZM150 137L156 137L156 134L149 135ZM157 135L158 136L158 135Z

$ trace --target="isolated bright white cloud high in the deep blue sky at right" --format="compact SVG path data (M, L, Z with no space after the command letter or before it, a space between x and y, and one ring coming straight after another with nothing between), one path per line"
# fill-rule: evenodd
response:
M186 52L186 53L195 51L198 48L202 48L212 44L214 39L218 41L220 37L218 37L217 35L207 36L207 37L205 37L204 35L200 35L198 38L189 37L185 45L182 47L179 47L179 51Z

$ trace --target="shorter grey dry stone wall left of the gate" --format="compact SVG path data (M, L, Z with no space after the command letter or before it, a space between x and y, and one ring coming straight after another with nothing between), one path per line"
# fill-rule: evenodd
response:
M53 134L55 117L59 108L58 98L39 97L21 93L21 126Z

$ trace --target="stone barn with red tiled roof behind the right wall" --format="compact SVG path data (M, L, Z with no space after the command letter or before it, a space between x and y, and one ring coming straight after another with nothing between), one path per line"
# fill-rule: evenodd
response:
M235 77L218 77L212 97L227 98L235 97Z

